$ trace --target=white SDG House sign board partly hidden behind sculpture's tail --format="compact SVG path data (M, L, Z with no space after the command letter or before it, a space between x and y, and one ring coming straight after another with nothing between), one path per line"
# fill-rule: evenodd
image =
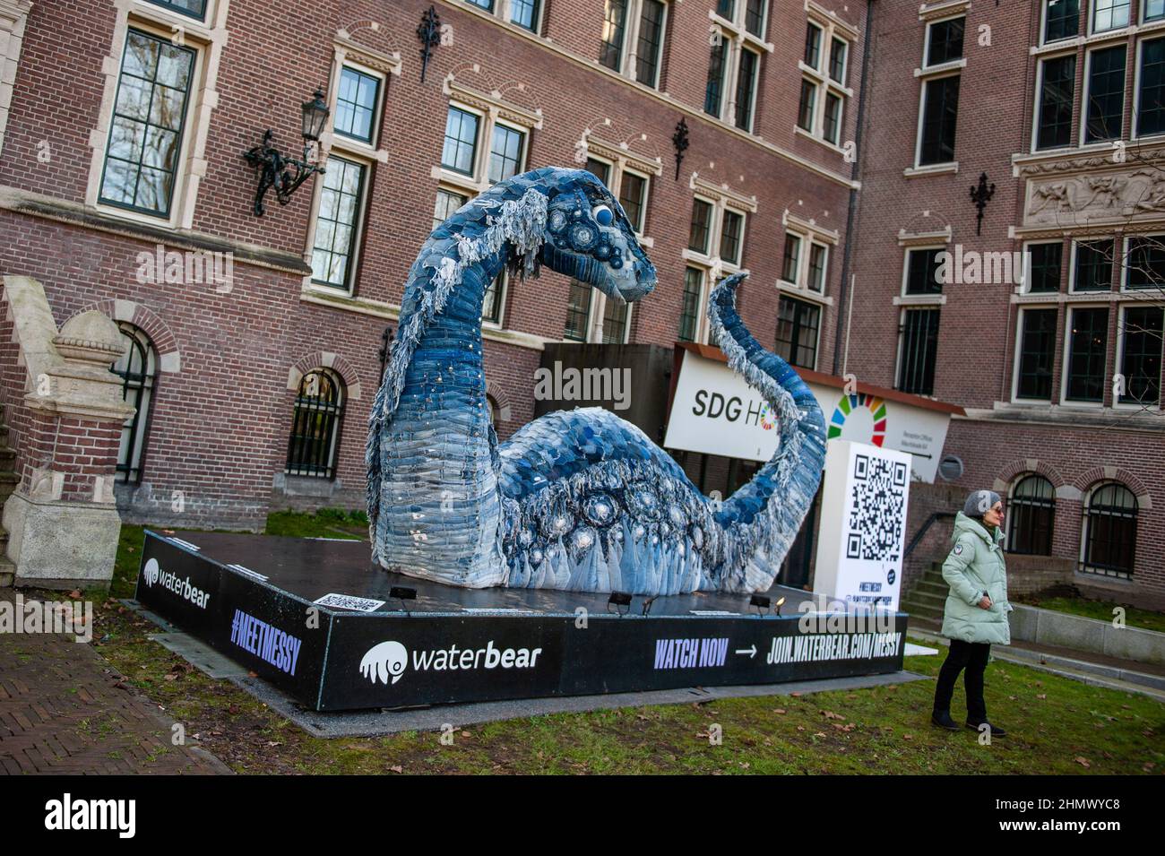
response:
M949 413L818 383L809 388L825 413L828 440L910 452L913 477L934 482ZM767 461L777 451L776 419L726 363L685 351L664 447Z

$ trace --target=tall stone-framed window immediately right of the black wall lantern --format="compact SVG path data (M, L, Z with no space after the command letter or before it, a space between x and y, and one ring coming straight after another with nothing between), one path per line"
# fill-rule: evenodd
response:
M316 179L309 252L309 285L354 293L368 188L377 162L380 122L389 75L400 61L338 42L329 86L330 125L320 135L326 158Z

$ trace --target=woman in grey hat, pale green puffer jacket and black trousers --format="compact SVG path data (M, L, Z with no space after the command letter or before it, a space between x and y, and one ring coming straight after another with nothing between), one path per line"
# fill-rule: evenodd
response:
M993 737L1007 735L987 721L983 672L991 644L1011 643L1008 625L1008 574L1003 561L1003 501L993 490L975 490L954 518L954 547L942 563L942 579L951 586L942 616L942 635L951 651L939 670L931 722L956 730L951 719L951 695L959 672L967 691L967 728L986 723Z

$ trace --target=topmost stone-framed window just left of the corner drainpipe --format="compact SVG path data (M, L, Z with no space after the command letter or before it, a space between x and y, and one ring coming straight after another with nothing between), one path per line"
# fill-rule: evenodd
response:
M805 27L805 54L800 62L797 127L833 146L841 144L846 98L849 94L846 87L848 64L849 41L832 22L810 20Z

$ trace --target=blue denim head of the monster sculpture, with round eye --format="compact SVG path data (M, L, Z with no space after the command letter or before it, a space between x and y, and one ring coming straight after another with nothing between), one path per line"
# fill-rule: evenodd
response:
M655 266L607 186L581 169L538 172L545 174L550 185L543 264L619 302L634 303L650 292L656 284Z

